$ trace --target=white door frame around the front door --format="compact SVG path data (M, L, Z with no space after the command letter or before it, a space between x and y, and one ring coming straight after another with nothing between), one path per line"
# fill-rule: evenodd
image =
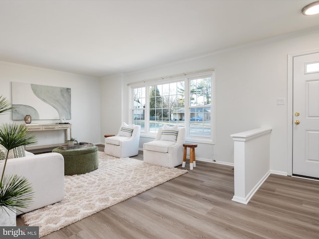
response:
M293 175L293 83L294 83L294 61L293 58L296 56L304 56L309 54L319 53L319 49L293 53L287 55L287 175Z

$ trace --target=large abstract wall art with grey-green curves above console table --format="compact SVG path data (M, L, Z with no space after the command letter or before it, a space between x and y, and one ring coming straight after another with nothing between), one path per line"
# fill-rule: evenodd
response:
M71 88L11 82L12 119L71 119Z

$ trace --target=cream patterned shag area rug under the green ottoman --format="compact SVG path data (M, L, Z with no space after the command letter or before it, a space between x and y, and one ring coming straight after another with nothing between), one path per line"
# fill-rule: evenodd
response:
M186 172L138 159L116 158L99 151L98 169L65 176L65 196L61 202L21 218L26 225L39 227L39 237L43 237Z

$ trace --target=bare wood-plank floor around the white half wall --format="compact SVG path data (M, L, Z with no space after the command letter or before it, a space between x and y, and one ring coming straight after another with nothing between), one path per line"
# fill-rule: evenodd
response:
M231 201L233 172L197 161L194 170L42 239L319 238L318 181L272 174L243 205Z

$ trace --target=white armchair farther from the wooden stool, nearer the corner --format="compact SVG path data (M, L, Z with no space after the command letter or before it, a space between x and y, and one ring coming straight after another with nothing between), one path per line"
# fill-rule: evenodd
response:
M141 125L128 125L124 122L116 136L105 138L104 152L118 158L138 155L140 133Z

